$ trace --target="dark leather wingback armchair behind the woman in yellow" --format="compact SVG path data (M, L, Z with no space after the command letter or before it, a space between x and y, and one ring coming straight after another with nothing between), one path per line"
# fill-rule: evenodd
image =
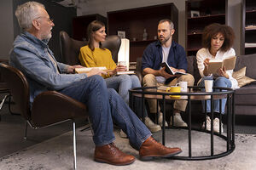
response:
M61 58L63 63L67 65L80 65L79 52L80 48L87 45L86 41L78 41L69 37L66 31L60 32L61 42ZM108 48L112 53L112 58L115 63L118 61L118 53L121 45L121 39L116 36L109 36L105 42L102 42L103 48Z

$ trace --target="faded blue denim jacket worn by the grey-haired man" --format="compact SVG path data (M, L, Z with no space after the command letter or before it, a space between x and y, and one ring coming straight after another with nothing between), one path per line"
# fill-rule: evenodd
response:
M44 91L58 91L87 77L86 74L65 74L69 65L55 60L59 73L49 59L49 54L54 55L47 43L25 31L15 38L10 51L9 64L19 69L29 83L31 104Z

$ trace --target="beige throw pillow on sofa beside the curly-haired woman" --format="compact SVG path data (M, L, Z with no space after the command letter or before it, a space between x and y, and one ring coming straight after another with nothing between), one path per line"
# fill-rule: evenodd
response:
M247 85L248 83L254 82L253 78L246 77L247 67L241 68L239 71L234 71L232 77L236 78L236 81L238 82L238 86L241 88L242 86Z

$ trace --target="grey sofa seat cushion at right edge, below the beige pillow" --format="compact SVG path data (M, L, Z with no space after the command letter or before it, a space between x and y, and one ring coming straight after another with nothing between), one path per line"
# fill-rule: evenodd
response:
M248 84L242 88L236 89L236 105L255 105L256 106L256 85Z

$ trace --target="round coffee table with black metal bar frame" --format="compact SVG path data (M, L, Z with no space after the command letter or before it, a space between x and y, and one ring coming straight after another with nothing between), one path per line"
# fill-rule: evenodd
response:
M188 137L189 137L189 156L172 156L172 159L179 159L179 160L207 160L207 159L214 159L222 156L229 155L232 151L235 150L236 144L235 144L235 113L234 113L234 103L235 103L235 91L231 88L216 88L213 87L213 89L218 89L219 92L202 92L202 89L204 87L188 87L188 92L186 93L168 93L166 92L165 88L160 87L147 87L147 88L132 88L129 90L130 94L130 107L131 109L134 108L134 101L135 98L140 98L143 101L143 107L142 111L145 111L145 99L157 99L157 104L159 101L162 101L163 107L163 125L162 125L162 144L165 145L166 140L166 127L164 125L164 122L166 122L166 101L167 100L177 100L177 99L183 99L188 101L187 105L187 112L188 112ZM177 97L180 96L180 97ZM172 97L176 96L176 97ZM227 116L227 133L222 133L221 130L219 130L219 133L213 132L213 118L211 118L211 131L207 131L205 129L192 129L191 127L191 101L192 100L211 100L212 110L211 110L211 117L213 117L213 100L219 99L221 103L221 99L227 99L226 106L227 110L225 112ZM221 110L221 105L220 110ZM205 108L207 108L207 102L205 102ZM205 115L206 111L205 111ZM205 116L206 117L206 116ZM220 116L220 123L221 123L221 117ZM206 119L206 118L205 118ZM172 118L173 120L173 118ZM144 122L144 116L143 116L143 122ZM173 122L172 122L173 124ZM221 126L220 126L221 127ZM211 135L211 154L209 156L192 156L192 146L191 146L191 131L196 130L201 133L210 133ZM214 143L213 143L213 137L223 139L226 141L226 150L224 150L221 153L214 154Z

